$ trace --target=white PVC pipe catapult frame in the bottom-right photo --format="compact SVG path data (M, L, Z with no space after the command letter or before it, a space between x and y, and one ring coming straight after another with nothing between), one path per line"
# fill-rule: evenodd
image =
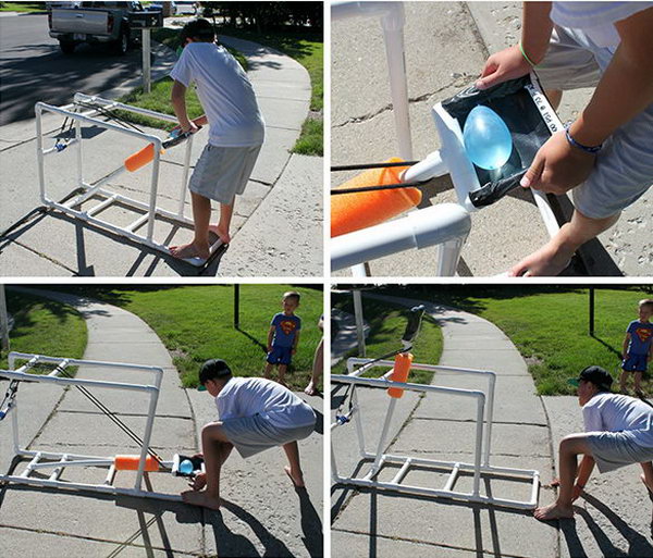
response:
M433 496L433 497L445 497L453 499L460 499L466 501L477 501L483 504L491 504L495 506L505 506L517 509L533 509L538 504L538 494L540 487L540 473L539 471L528 470L528 469L515 469L515 468L505 468L505 467L494 467L490 464L490 443L491 443L491 433L492 433L492 423L493 423L493 407L494 407L494 387L496 382L496 374L486 370L475 370L475 369L460 369L453 367L438 367L431 364L420 364L414 363L411 369L415 370L427 370L427 371L440 371L455 374L468 374L468 375L477 375L477 376L485 376L488 379L488 393L477 390L477 389L460 389L455 387L442 387L442 386L433 386L433 385L422 385L422 384L411 384L411 383L401 383L401 382L392 382L389 380L389 374L382 379L367 379L360 377L358 371L354 371L354 365L364 365L366 363L372 362L371 359L360 359L360 358L352 358L347 360L347 371L346 375L335 374L331 376L332 383L343 383L343 384L354 384L354 385L362 385L367 387L375 387L375 388L389 388L389 387L399 387L407 390L412 392L421 392L421 393L439 393L443 395L451 395L455 397L468 397L476 399L477 401L477 413L476 413L476 437L475 437L475 458L473 463L465 463L460 461L441 461L434 459L422 459L410 456L397 456L383 452L383 448L385 446L385 442L387 438L387 433L390 430L390 424L392 421L392 416L394 413L394 408L396 405L396 399L392 398L389 408L385 414L385 420L383 424L383 429L381 435L379 437L379 443L377 445L375 452L369 452L366 450L365 438L364 438L364 429L362 429L362 417L360 412L360 407L358 405L358 399L356 397L356 392L354 390L353 395L353 410L352 416L354 422L356 424L356 432L358 437L358 445L360 450L360 457L364 460L372 459L373 463L370 470L365 474L365 476L341 476L337 472L337 463L335 459L335 450L333 447L333 435L331 437L331 470L332 478L335 483L340 484L350 484L355 486L365 486L365 487L374 487L381 489L389 489L399 493L407 494L416 494L420 496ZM368 367L364 369L365 373L371 368L375 367L384 367L392 368L394 365L393 361L384 360L375 362L372 367ZM483 429L483 424L486 424L486 429ZM336 427L342 424L335 422L331 425L331 431L333 432ZM374 476L379 473L379 471L386 463L401 464L399 471L394 476L391 482L381 482L375 481ZM408 473L408 470L412 466L427 466L433 469L451 469L452 472L448 476L448 480L445 486L441 489L423 487L423 486L414 486L414 485L405 485L402 484L403 479ZM472 491L470 493L456 492L453 489L458 474L461 471L469 471L472 473L473 483ZM491 475L491 476L500 476L506 479L523 479L531 481L531 489L530 497L528 500L515 500L507 498L496 498L493 496L488 496L480 493L480 478L481 473Z

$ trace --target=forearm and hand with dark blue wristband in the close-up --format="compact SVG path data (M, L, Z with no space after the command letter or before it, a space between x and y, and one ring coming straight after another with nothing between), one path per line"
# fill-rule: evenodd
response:
M621 42L592 99L569 127L575 141L594 147L653 102L653 8L615 24ZM521 186L565 194L591 174L595 154L554 134L535 154Z

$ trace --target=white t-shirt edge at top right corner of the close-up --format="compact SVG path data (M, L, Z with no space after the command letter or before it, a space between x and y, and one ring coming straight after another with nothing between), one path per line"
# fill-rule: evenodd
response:
M615 23L653 7L653 2L553 2L551 20L582 29L597 47L617 47L621 39Z

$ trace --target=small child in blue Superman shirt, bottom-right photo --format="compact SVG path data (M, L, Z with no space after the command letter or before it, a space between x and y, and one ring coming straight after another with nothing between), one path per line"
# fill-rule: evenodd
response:
M619 377L623 394L627 393L626 384L628 373L634 375L634 393L642 394L642 375L646 372L646 364L653 357L653 300L645 298L638 305L639 319L633 320L626 330L624 339L624 361L621 362L621 376Z

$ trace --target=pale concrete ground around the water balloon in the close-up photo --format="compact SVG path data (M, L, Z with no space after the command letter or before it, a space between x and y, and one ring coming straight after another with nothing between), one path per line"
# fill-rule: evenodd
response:
M519 2L405 2L405 59L414 159L441 147L431 108L473 84L489 53L520 36ZM356 17L332 25L332 164L383 161L398 156L380 18ZM565 94L558 111L575 119L591 91ZM332 173L332 186L357 174ZM420 208L455 202L448 176L421 188ZM651 191L628 208L601 241L627 275L651 275ZM460 275L491 276L507 271L547 240L528 191L515 191L472 213ZM649 235L650 236L650 235ZM410 250L370 262L377 276L432 276L435 248ZM348 275L341 271L337 275Z

